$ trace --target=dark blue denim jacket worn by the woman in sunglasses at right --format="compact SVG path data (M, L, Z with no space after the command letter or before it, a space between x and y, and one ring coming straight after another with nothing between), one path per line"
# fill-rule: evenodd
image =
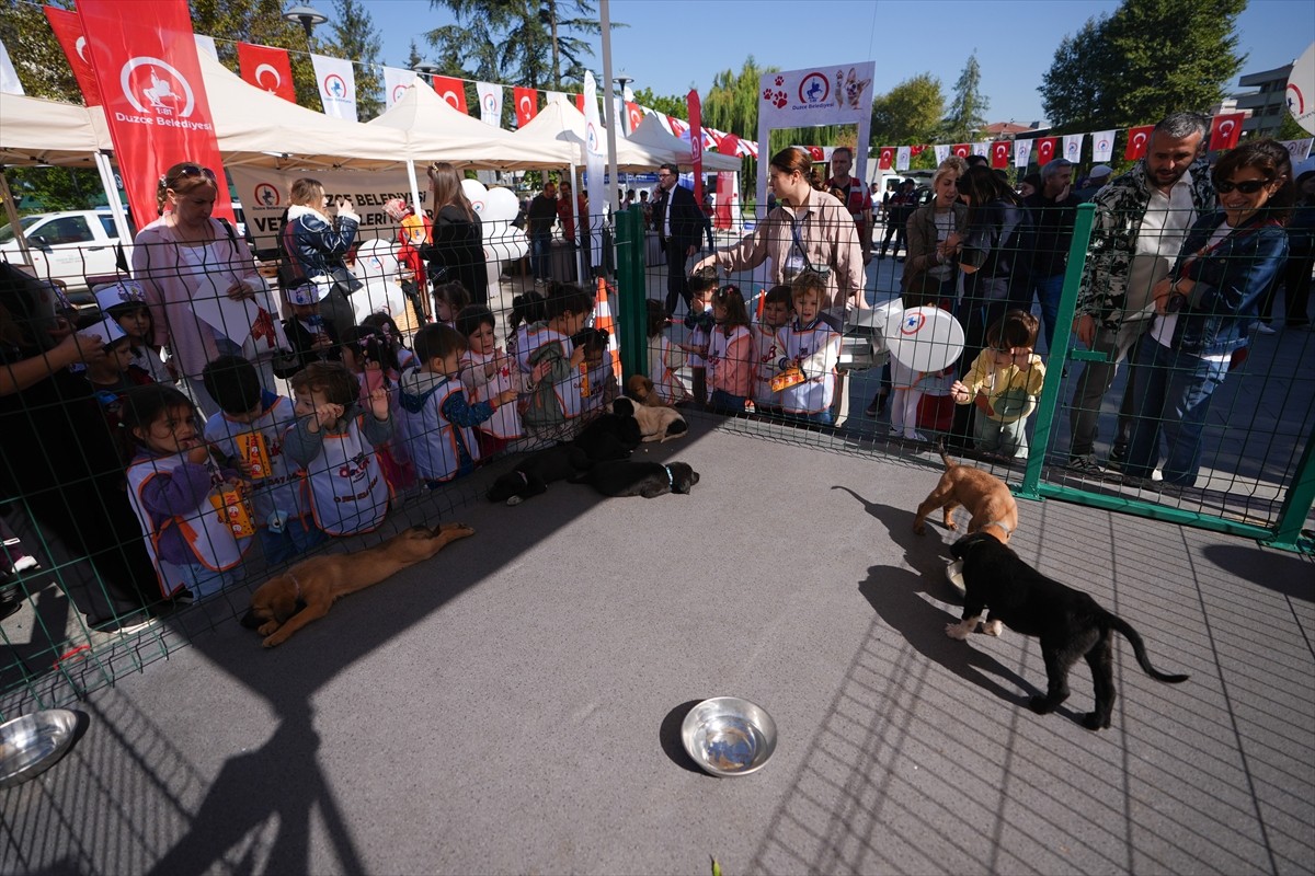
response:
M1287 232L1277 222L1247 223L1198 256L1223 221L1223 210L1197 219L1169 273L1195 281L1173 330L1173 348L1195 356L1247 345L1260 299L1287 260Z

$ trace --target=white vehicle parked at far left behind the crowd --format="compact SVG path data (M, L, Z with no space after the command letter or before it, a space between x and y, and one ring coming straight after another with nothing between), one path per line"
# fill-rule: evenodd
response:
M87 293L87 276L116 273L118 230L109 210L37 213L18 219L28 239L33 269L42 280L60 280L76 298ZM124 242L132 257L132 240ZM24 264L22 250L9 225L0 226L0 259Z

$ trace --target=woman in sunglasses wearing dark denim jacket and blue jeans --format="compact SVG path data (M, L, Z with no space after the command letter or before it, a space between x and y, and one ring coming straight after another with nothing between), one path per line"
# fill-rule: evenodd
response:
M1220 209L1193 225L1152 290L1157 315L1137 349L1124 466L1134 478L1148 478L1164 454L1164 483L1195 483L1212 391L1245 359L1260 299L1287 259L1283 223L1295 188L1287 150L1247 142L1219 160L1212 179Z

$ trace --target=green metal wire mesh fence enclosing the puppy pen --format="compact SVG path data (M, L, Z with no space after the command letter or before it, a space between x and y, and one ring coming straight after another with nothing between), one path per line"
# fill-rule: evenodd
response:
M886 227L871 221L880 239ZM601 217L592 225L601 226ZM1189 222L1180 218L1177 225L1186 229ZM1315 495L1315 335L1297 328L1268 334L1258 320L1245 317L1260 313L1277 286L1241 293L1249 299L1239 305L1244 315L1236 338L1249 343L1235 347L1249 355L1230 349L1227 361L1212 360L1219 366L1210 372L1208 408L1186 457L1194 474L1170 469L1170 477L1164 477L1174 453L1181 456L1182 448L1173 441L1182 439L1184 418L1172 410L1165 414L1162 393L1152 411L1157 399L1144 387L1156 383L1130 393L1128 373L1159 373L1159 385L1168 386L1174 377L1195 374L1189 366L1199 362L1184 359L1165 365L1155 359L1161 351L1147 344L1173 349L1176 335L1162 326L1156 334L1156 320L1145 313L1152 284L1140 274L1147 285L1141 303L1132 307L1147 323L1140 347L1130 344L1111 353L1078 343L1074 315L1099 310L1093 296L1102 288L1098 280L1082 290L1084 272L1090 271L1088 253L1095 246L1091 208L1043 205L1016 215L1006 210L969 218L959 208L936 210L928 204L907 218L906 238L890 235L894 250L882 253L874 247L867 263L849 227L852 219L843 213L811 217L798 227L800 234L780 217L759 223L747 236L709 225L694 242L672 248L669 226L659 227L635 208L617 217L601 251L581 247L560 230L531 235L525 259L502 263L488 276L485 301L477 303L488 307L498 349L490 351L489 360L467 362L467 369L488 378L467 395L487 401L500 386L493 378L497 372L517 391L522 415L538 393L564 402L571 423L562 429L525 429L522 437L485 436L498 439L488 441L475 427L454 439L459 429L446 420L416 419L410 422L398 398L408 365L416 364L417 332L431 315L456 322L455 311L469 302L456 293L455 299L435 301L426 278L408 273L391 244L362 247L352 265L359 288L325 284L316 296L323 296L318 314L289 299L277 281L277 264L252 261L241 240L217 239L204 252L180 252L176 243L139 247L132 253L134 276L147 282L155 278L155 288L147 289L153 306L143 313L167 331L153 335L138 327L142 336L126 344L107 335L101 340L108 343L74 352L47 330L59 315L82 318L87 326L101 322L104 314L78 289L79 280L88 277L66 271L76 303L60 303L43 299L42 288L7 274L0 338L11 383L0 395L5 449L0 519L9 562L0 561L5 566L0 598L11 613L0 621L0 717L67 703L125 672L141 671L208 629L233 623L268 570L295 562L308 546L312 552L352 550L414 523L435 524L479 498L475 481L462 477L475 457L483 464L569 437L575 426L606 407L622 378L634 376L647 376L654 391L679 403L686 416L715 418L719 428L836 452L899 456L918 465L939 465L934 445L945 440L951 453L989 468L1023 496L1061 498L1287 548L1308 546L1302 533L1310 525ZM1162 273L1177 252L1161 255L1164 263L1156 271ZM1227 267L1248 256L1215 257ZM715 278L702 281L705 294L686 298L692 269L705 260L715 265ZM601 285L598 277L605 277ZM548 281L579 284L594 305L592 317L581 314L588 319L579 324L552 322L543 299L555 288ZM810 284L818 286L815 294ZM697 278L694 285L700 285ZM734 289L726 290L727 285ZM101 301L101 306L110 305ZM905 307L913 305L924 307L920 322L905 319ZM938 317L938 310L947 317ZM1018 324L1006 331L1011 310L1030 315L1009 318ZM1199 301L1180 302L1180 324L1212 313ZM1282 315L1276 309L1266 313L1276 322ZM952 361L923 357L914 366L901 361L910 349L926 353L952 347L940 335L918 338L948 326L945 319L964 336L960 356ZM596 351L588 361L573 364L568 356L575 341L567 339L590 322L609 330L610 352ZM559 349L567 359L535 369L523 356L525 345L542 344L542 332L554 343L563 341ZM899 355L892 364L892 348L910 336L917 344L896 351ZM170 365L159 360L155 347L166 338L174 353ZM577 335L576 341L583 340ZM132 356L104 355L107 347L113 353L120 345ZM613 368L618 345L622 373ZM97 355L91 355L93 348ZM504 351L510 357L497 360ZM259 408L260 416L245 424L242 411L234 419L234 402L227 398L237 390L225 387L224 380L205 381L205 366L222 355L250 361L264 390L258 403L247 406L249 414ZM84 359L95 361L85 365ZM193 426L210 447L233 441L233 449L206 453L205 466L214 469L216 482L245 481L247 498L255 502L213 506L210 487L216 485L206 479L192 496L195 514L164 515L142 504L134 512L132 496L139 500L143 483L151 479L147 475L167 468L160 458L170 456L164 452L170 448L147 453L139 435L135 444L130 440L135 414L126 411L125 426L125 399L142 370L130 372L133 361L154 372L156 381L175 385L199 408L205 424L199 416ZM356 382L348 397L318 402L356 405L368 419L368 389L379 385L391 393L387 414L393 429L384 443L379 435L364 441L359 435L347 437L351 429L343 427L345 437L334 439L341 458L330 464L323 453L306 456L321 447L305 426L316 416L317 399L306 398L297 374L339 361L346 365L339 370L351 372ZM1130 362L1139 368L1128 368ZM30 368L37 378L24 370ZM1099 373L1093 377L1093 372ZM356 389L362 382L366 393ZM1136 385L1136 378L1131 382ZM326 385L321 381L309 391L323 391ZM309 407L295 407L299 391ZM277 397L285 401L276 402ZM1120 429L1124 399L1131 401ZM220 410L221 402L229 414ZM212 423L230 426L218 429ZM1166 424L1178 428L1169 443ZM301 433L293 436L299 426ZM1141 468L1132 469L1120 437L1132 439L1137 427L1151 426L1156 440L1141 435L1141 458L1135 460ZM266 458L259 449L252 456L250 443L242 445L243 453L235 452L242 435L259 431L266 435L260 448ZM362 452L348 452L348 441L358 441L351 448ZM433 465L434 456L426 456L430 452L421 445L435 441L452 450L438 454L446 468L417 470L421 457ZM377 452L380 447L384 453ZM272 512L280 508L266 500L272 491L252 478L251 461L258 468L272 465L268 454L281 457L289 449L301 456L288 454L292 464L284 464L279 477L287 478L280 486L293 495L292 504L283 508L289 516L283 517L280 532L271 533L279 516ZM134 481L125 471L134 460L141 464L141 456L150 465ZM377 475L384 486L366 490L368 496L350 494L354 500L367 499L360 519L338 515L330 520L331 490L317 498L313 482L343 470L350 470L348 479L364 477L364 483ZM327 506L316 506L325 499ZM191 521L193 531L221 519L227 525L231 519L220 515L234 506L251 515L246 525L254 531L243 529L235 538L237 562L224 575L197 567L179 573L180 545L195 546L197 538L179 541L163 532L174 523ZM291 540L289 517L302 521L301 541ZM322 531L342 535L326 538L318 535ZM249 542L241 544L243 538ZM212 552L206 558L224 557ZM167 623L139 629L138 623L150 617L167 617Z

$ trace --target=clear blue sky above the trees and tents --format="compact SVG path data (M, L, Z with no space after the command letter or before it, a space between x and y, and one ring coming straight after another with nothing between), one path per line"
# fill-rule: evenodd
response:
M363 4L391 66L402 66L413 38L422 55L431 55L423 33L452 21L429 0ZM331 0L316 5L326 13L333 9ZM1026 125L1043 118L1036 85L1060 39L1118 5L1109 0L613 0L611 20L630 25L613 32L613 75L625 70L634 88L659 95L690 88L706 95L718 71L738 71L748 55L782 70L873 59L876 93L926 71L940 77L948 96L976 49L982 91L990 99L989 121ZM1315 3L1251 0L1237 29L1248 55L1243 72L1281 67L1315 35ZM601 51L594 51L590 66L601 79Z

